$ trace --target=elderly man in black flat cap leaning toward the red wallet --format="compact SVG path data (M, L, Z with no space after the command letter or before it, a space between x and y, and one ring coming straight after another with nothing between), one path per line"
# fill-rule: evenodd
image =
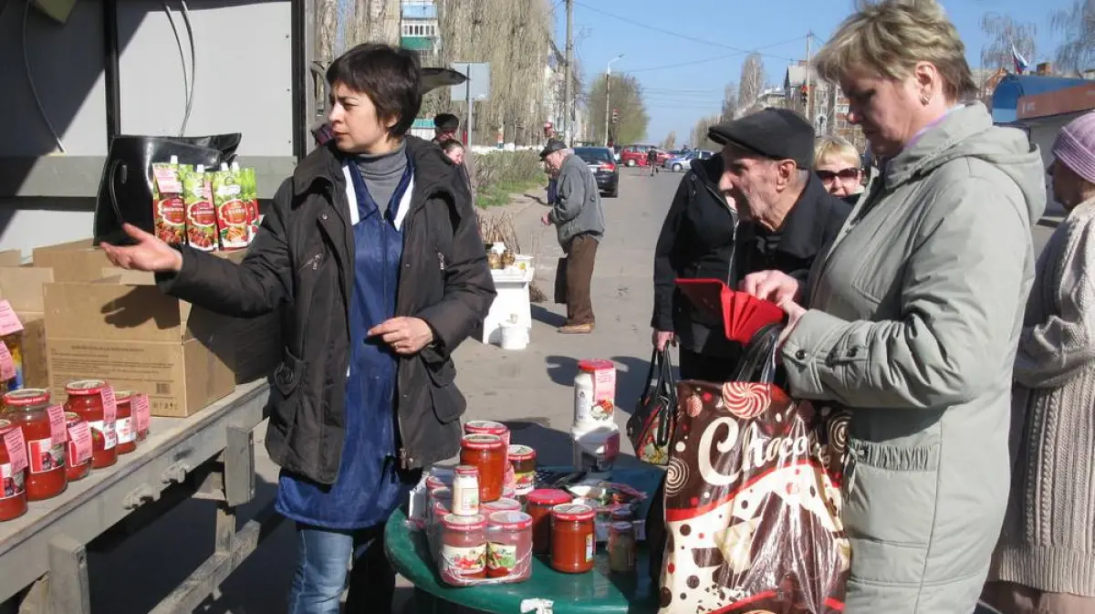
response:
M793 111L770 107L713 126L707 136L723 146L718 188L740 217L734 281L762 270L805 281L852 210L810 171L814 127Z

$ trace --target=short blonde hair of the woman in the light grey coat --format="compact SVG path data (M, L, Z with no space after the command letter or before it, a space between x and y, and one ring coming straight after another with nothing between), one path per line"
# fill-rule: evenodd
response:
M931 62L943 77L952 102L976 93L966 45L935 0L861 0L860 10L818 51L814 67L830 82L864 67L894 80L912 74L917 62Z

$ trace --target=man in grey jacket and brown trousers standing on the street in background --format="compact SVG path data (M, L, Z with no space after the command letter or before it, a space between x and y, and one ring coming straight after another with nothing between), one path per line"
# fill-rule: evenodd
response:
M555 224L558 244L566 253L566 324L558 332L589 334L596 322L589 287L597 245L604 236L601 193L589 166L563 141L549 140L540 159L558 173L557 196L541 220L544 225Z

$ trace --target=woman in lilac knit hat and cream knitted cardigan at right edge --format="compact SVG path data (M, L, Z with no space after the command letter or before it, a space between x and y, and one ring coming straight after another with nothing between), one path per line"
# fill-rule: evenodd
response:
M1069 212L1038 259L1015 358L1017 461L984 600L1004 614L1095 612L1095 112L1049 169Z

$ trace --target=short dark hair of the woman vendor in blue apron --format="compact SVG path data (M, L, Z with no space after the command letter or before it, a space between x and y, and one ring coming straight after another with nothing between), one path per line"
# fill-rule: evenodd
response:
M327 67L327 83L342 83L360 92L377 107L377 117L399 117L388 132L402 137L422 107L422 68L414 51L379 43L362 43L338 56Z

